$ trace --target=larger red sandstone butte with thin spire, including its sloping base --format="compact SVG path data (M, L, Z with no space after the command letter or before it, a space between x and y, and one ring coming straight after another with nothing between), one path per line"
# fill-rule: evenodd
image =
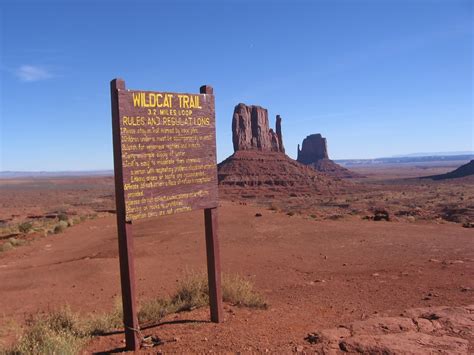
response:
M282 118L276 116L275 131L269 127L268 111L239 103L232 117L234 154L218 164L218 180L225 194L247 197L291 193L332 194L347 187L337 177L319 173L285 154Z

